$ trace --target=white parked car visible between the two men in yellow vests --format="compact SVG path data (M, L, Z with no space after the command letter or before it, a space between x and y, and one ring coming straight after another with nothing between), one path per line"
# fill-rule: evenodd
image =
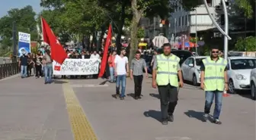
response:
M181 65L181 71L184 80L193 82L194 86L198 86L200 83L200 67L203 63L203 59L207 58L206 56L192 56L187 58L186 61Z

